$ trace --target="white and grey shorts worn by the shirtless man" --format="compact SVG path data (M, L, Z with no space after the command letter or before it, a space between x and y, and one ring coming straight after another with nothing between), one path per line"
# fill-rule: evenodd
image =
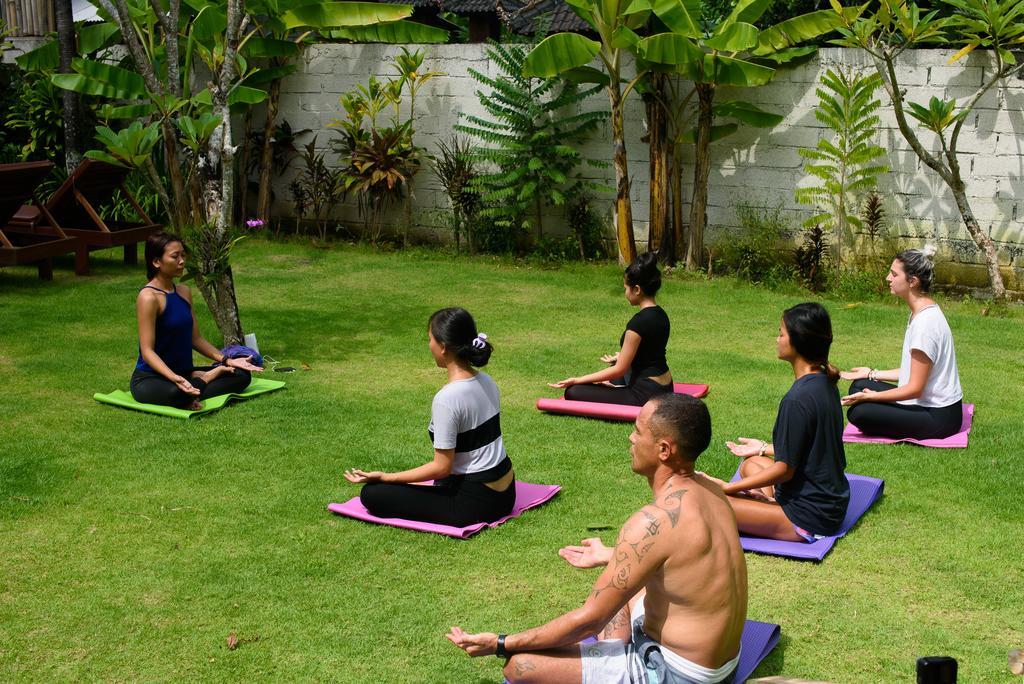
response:
M644 634L643 601L634 605L633 636L629 642L605 639L580 644L583 684L726 684L739 664L739 654L712 670L663 648Z

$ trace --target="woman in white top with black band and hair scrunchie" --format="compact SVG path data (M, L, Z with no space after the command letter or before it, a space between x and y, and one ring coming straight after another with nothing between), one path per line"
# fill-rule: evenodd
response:
M345 479L365 483L359 500L382 518L457 527L494 522L515 506L515 473L502 440L498 385L473 369L486 366L493 347L462 308L434 312L428 336L434 361L447 371L430 409L433 460L397 473L353 468ZM414 484L425 480L434 483Z

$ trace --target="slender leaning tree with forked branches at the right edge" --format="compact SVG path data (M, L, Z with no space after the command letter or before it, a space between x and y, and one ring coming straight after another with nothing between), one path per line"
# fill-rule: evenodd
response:
M1007 296L1002 274L999 272L998 255L992 239L981 228L967 197L967 182L961 171L956 148L964 123L978 100L996 83L1020 72L1013 50L1024 47L1024 2L1020 0L944 0L951 16L939 17L938 11L922 11L903 0L882 0L879 8L861 18L848 18L843 8L833 0L833 8L843 18L837 41L847 47L862 48L870 55L874 69L882 78L882 85L893 104L893 114L900 133L910 144L918 158L935 171L952 193L974 243L985 257L992 297L1004 300ZM950 63L970 54L977 48L988 51L990 68L973 94L957 102L932 97L926 103L908 101L906 91L897 79L896 60L905 50L921 45L959 47L950 57ZM930 131L939 142L940 154L929 152L910 125L916 120L919 127Z

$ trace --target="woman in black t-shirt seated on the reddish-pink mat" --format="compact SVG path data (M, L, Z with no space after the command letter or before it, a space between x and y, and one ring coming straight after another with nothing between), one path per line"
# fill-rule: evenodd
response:
M626 268L623 279L627 301L640 310L626 325L626 332L618 340L622 347L618 353L601 357L610 367L549 386L564 388L566 399L632 407L642 407L654 394L671 392L672 373L665 360L669 314L654 301L660 287L657 254L642 254Z

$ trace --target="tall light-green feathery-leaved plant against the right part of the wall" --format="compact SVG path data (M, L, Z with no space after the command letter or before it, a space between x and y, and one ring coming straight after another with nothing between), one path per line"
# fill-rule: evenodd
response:
M831 139L819 139L816 147L800 151L809 162L804 171L816 183L799 187L795 194L798 202L815 209L804 225L821 225L835 234L836 267L842 268L843 244L853 227L862 227L857 197L873 188L879 175L889 170L874 163L886 154L874 144L879 125L876 112L882 104L874 92L882 80L877 74L862 76L829 69L821 77L821 84L824 87L817 89L814 117L834 135Z

